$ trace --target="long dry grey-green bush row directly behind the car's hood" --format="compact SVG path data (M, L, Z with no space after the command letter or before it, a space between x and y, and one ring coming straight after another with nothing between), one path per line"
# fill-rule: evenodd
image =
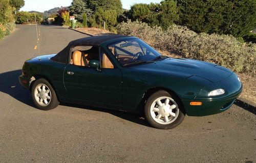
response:
M238 73L256 74L256 44L241 43L231 35L197 34L177 25L163 31L160 27L152 28L131 20L119 24L117 31L139 37L161 51L220 64Z

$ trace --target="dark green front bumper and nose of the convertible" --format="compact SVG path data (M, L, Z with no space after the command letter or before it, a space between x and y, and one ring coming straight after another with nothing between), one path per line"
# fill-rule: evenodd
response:
M182 101L187 115L204 116L223 112L232 106L243 89L242 83L237 80L237 76L234 73L225 80L215 83L215 85L224 88L227 94L215 98L196 98ZM193 101L200 101L202 105L191 106L190 102Z

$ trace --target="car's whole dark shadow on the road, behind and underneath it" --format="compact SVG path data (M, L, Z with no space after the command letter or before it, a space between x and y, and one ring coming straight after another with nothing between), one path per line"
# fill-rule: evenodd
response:
M18 100L19 102L22 102L26 105L29 105L35 108L35 105L32 102L31 94L29 90L24 89L18 81L18 77L21 74L22 74L21 69L0 74L0 91L4 92L7 95L10 95L12 98ZM76 105L76 104L67 104L67 103L61 103L61 105L77 107L81 109L90 109L95 111L107 112L127 121L131 121L144 126L150 126L147 123L147 121L144 118L142 118L141 115L135 114L135 113L109 110L109 109L103 109L103 108L97 108L97 107L89 107L89 106Z

